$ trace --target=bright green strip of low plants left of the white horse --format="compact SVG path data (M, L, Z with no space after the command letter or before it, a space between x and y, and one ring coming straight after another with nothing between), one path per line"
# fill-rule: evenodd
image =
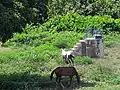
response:
M28 50L14 50L8 53L0 54L0 63L7 63L10 61L33 60L33 61L49 61L57 59L60 54L57 48L52 45L41 45L39 47L30 47Z

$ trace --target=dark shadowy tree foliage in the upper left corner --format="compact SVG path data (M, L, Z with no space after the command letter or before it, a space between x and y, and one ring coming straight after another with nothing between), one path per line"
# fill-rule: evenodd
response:
M44 0L0 1L0 39L5 42L14 32L22 32L29 23L42 24L47 18Z

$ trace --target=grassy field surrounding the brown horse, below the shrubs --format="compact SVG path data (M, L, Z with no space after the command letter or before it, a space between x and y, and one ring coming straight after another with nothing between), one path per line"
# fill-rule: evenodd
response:
M63 33L59 37L62 36L64 36ZM105 57L103 59L91 59L88 57L75 59L75 68L77 69L81 80L83 81L83 84L77 85L76 80L74 78L72 84L74 89L119 89L119 38L119 34L110 34L105 36ZM61 43L58 43L57 40L54 41L55 42L53 44L41 44L37 47L25 46L22 48L15 49L3 47L0 48L0 82L4 82L5 85L3 87L7 88L7 86L12 82L27 82L29 84L32 82L32 84L30 84L31 87L34 84L34 82L38 82L39 84L43 84L44 82L50 82L50 85L48 85L47 83L45 84L45 86L48 85L48 88L51 88L51 86L53 88L56 88L55 84L53 84L54 82L50 81L49 79L51 71L58 66L68 65L65 65L62 61L61 51L59 48L59 45L61 45ZM72 44L75 42L77 41L72 40ZM72 45L70 43L71 42L69 42L68 44L69 46ZM65 82L67 81L67 79L64 80ZM89 81L93 83L89 83ZM65 82L63 81L63 83ZM93 85L94 83L95 85ZM35 85L36 87L39 87L38 84ZM19 84L13 85L13 87L14 86L17 87L19 86ZM70 88L73 88L72 86Z

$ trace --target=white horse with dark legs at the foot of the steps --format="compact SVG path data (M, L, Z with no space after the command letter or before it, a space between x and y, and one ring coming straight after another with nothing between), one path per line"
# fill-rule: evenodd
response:
M68 64L68 63L74 63L73 58L74 56L72 55L72 51L65 51L64 49L62 50L62 57L63 60Z

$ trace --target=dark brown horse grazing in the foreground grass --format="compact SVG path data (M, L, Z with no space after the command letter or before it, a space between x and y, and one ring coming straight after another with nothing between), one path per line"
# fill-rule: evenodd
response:
M74 67L57 67L51 73L50 79L53 79L53 74L56 74L56 82L60 83L62 76L69 76L70 77L70 84L74 75L76 75L77 82L80 83L80 78L78 75L77 70Z

